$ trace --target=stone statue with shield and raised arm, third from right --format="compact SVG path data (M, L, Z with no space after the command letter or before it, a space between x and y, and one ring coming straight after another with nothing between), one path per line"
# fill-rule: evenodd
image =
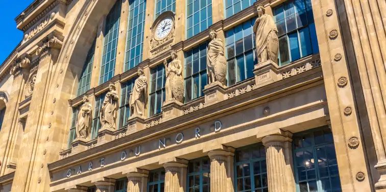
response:
M183 102L184 99L184 78L182 77L182 65L181 61L177 59L177 52L171 53L172 62L167 64L166 60L163 60L166 70L166 83L165 83L165 100L177 100Z

